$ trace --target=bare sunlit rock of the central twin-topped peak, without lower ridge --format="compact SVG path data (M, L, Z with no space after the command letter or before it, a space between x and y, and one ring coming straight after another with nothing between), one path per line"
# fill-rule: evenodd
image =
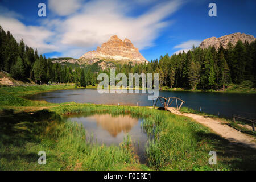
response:
M117 35L98 46L96 51L89 51L79 58L80 63L92 64L97 60L148 63L129 39L121 40Z

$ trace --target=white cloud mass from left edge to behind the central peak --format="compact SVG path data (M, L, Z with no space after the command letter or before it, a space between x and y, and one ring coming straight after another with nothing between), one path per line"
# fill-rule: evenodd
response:
M134 1L48 0L49 9L59 15L55 19L48 13L39 26L26 26L17 19L0 15L0 24L17 40L23 38L28 46L38 48L39 53L60 52L60 56L77 58L114 34L145 49L154 46L154 40L164 27L171 26L167 17L183 4L183 1L172 0L151 5L154 2L147 1L147 7L150 5L151 9L146 13L143 9L140 15L131 16L134 10L139 11Z

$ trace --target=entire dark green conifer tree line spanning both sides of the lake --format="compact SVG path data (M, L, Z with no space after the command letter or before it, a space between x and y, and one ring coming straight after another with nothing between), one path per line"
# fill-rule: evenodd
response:
M16 42L10 32L0 27L0 69L8 72L17 80L27 81L27 78L37 83L67 83L76 85L95 85L99 73L94 67L80 68L70 65L61 66L52 63L38 55L37 50L28 47L23 40ZM185 89L224 89L230 83L241 84L246 82L249 86L256 85L256 42L236 45L228 44L226 49L222 45L218 49L209 47L201 49L193 47L187 53L180 52L171 57L160 56L159 60L152 60L146 64L116 65L115 74L125 73L159 73L159 85L168 88L179 87ZM153 78L154 79L154 78Z

